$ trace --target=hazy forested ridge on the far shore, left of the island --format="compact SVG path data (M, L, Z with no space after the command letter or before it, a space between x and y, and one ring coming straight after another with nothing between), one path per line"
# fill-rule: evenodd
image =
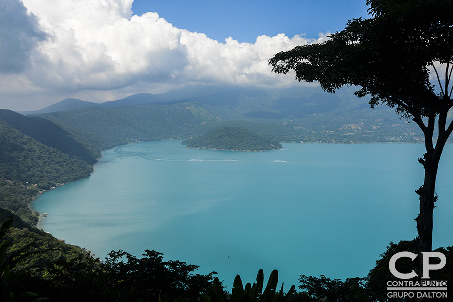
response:
M214 117L197 104L85 107L41 114L91 150L135 141L183 139Z

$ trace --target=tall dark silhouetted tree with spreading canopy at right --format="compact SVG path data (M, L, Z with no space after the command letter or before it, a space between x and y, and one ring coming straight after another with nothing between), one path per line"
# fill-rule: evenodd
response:
M453 1L368 0L366 4L371 18L350 20L324 43L280 52L269 64L273 72L293 70L299 81L318 81L330 93L344 85L356 86L356 96L371 96L371 108L384 104L417 123L426 153L418 159L425 177L416 190L420 213L415 220L420 251L431 251L437 169L453 131L447 119L453 107Z

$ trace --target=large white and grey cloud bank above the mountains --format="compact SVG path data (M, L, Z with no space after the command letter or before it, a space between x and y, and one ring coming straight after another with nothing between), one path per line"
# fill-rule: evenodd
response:
M326 39L279 34L253 44L219 42L176 28L157 13L132 15L133 0L4 1L0 94L6 99L91 94L94 99L85 99L106 101L187 83L295 84L293 77L272 74L269 58Z

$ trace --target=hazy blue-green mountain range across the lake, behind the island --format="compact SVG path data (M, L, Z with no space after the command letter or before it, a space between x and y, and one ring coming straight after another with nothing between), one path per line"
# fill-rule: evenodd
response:
M282 142L420 142L413 123L393 109L369 108L353 88L336 94L318 87L282 89L189 86L138 93L101 104L65 99L35 112L101 149L132 141L186 139L240 126ZM119 135L121 134L121 135ZM89 146L87 146L89 147Z

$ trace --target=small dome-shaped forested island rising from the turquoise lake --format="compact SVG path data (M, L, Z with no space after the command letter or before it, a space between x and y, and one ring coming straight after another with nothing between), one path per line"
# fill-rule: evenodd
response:
M182 144L188 148L229 151L268 151L282 148L278 141L272 141L240 127L212 130L199 137L186 139Z

